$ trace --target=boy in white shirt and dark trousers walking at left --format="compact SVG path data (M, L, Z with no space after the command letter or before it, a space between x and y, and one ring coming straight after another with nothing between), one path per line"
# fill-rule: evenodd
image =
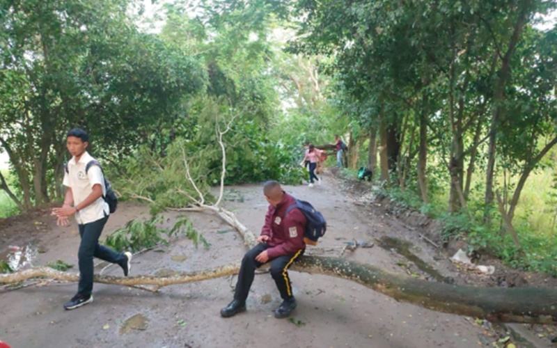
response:
M93 256L111 263L119 264L124 276L130 273L132 253L118 253L99 244L104 224L109 219L109 205L104 201L107 193L104 177L99 166L86 166L94 158L86 151L89 136L82 129L72 129L66 136L66 146L72 155L68 170L64 172L63 184L68 187L64 204L52 209L58 217L57 224L68 225L69 218L75 215L79 226L79 285L77 294L64 304L67 310L75 309L93 302Z

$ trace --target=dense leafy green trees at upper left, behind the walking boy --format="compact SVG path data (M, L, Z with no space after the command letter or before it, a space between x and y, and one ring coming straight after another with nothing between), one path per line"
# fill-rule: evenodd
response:
M87 129L106 159L159 150L203 86L201 65L139 32L127 1L1 4L0 146L19 194L3 189L20 209L61 196L68 129Z

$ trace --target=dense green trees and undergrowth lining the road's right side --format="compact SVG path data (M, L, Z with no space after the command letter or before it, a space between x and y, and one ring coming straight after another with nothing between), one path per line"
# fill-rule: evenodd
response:
M556 5L297 1L301 40L290 52L331 58L352 168L372 167L395 200L442 218L447 235L555 273L556 255L533 252L555 243L526 223L540 203L517 207L528 178L553 166L544 159L557 143L557 29L535 24Z

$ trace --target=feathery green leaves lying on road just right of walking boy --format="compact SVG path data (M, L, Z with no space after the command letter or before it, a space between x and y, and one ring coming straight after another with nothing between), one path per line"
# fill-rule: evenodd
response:
M194 242L196 248L201 242L205 248L210 247L210 243L197 232L186 217L180 217L173 228L162 228L164 216L153 215L147 221L140 219L130 220L123 228L114 231L104 239L104 245L117 251L138 251L154 248L158 245L168 245L168 240L172 237L185 235Z

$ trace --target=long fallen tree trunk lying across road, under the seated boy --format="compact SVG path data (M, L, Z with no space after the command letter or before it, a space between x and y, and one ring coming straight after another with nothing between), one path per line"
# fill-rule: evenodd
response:
M384 271L370 264L340 258L304 256L292 270L352 280L397 301L458 315L469 315L499 322L557 324L557 290L538 287L472 287L449 285L410 278ZM95 276L95 282L116 285L168 285L192 283L237 274L240 264L196 272L177 272L171 276ZM48 267L1 274L0 283L18 283L37 277L77 281L77 274Z

